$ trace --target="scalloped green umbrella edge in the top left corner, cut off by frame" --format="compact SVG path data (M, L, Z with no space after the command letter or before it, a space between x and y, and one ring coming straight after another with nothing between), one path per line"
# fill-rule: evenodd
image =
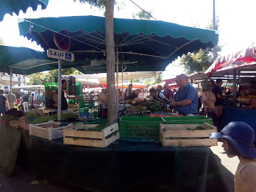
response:
M49 0L0 0L0 22L7 13L19 15L20 10L25 13L29 7L35 11L39 4L42 6L42 10L44 10L48 2Z

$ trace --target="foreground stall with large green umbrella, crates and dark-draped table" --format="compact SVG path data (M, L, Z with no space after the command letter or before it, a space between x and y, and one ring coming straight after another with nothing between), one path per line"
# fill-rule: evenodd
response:
M71 22L69 20L68 23L79 24L67 26L66 19L79 21ZM63 25L59 28L60 31L71 27L68 29L72 31L70 36L81 37L79 43L72 38L71 45L74 46L70 47L70 51L74 52L77 58L72 66L76 66L77 69L87 74L106 71L106 64L99 62L106 59L106 45L102 43L104 42L104 18L62 17L31 19L31 22L35 24L31 33L28 33L29 23L27 20L23 20L23 23L19 24L20 34L36 40L44 49L49 47L45 42L49 43L50 47L55 46L52 42L52 33L54 32L38 28L40 22L44 23L41 23L41 26L48 29ZM81 26L81 23L84 26ZM45 26L45 24L50 24L50 26ZM59 29L54 30L58 31ZM124 68L127 71L143 71L148 70L148 67L153 71L163 70L177 56L195 49L213 47L218 42L218 35L215 34L215 31L187 29L188 27L185 26L159 21L115 19L115 35L118 36L116 38L118 39L116 56L117 58L118 54L124 56L122 61L117 59L116 72L120 69L124 71ZM165 32L163 33L163 31ZM92 40L92 42L84 44L83 40L86 42ZM147 44L148 42L150 43ZM152 47L157 47L159 50L152 49ZM91 61L95 59L97 59L96 62ZM88 62L86 63L86 61ZM119 67L119 64L122 67ZM156 112L164 109L159 105L156 109L156 104L154 107L149 104L148 107ZM171 115L170 118L175 117ZM169 114L165 117L168 118L168 116ZM191 147L188 142L182 142L183 144L179 145L179 141L177 141L178 144L172 145L176 147L163 147L160 138L160 125L165 126L166 122L169 122L166 127L170 127L171 130L168 132L177 131L172 130L172 124L181 124L184 129L182 131L189 132L189 138L195 132L193 140L202 136L202 141L205 141L209 137L209 132L216 132L212 123L207 123L209 119L199 119L198 121L198 119L191 120L188 117L189 119L185 120L183 118L170 120L163 119L162 116L151 117L148 114L145 118L142 116L137 116L136 119L132 118L132 116L122 116L118 127L108 124L105 127L106 122L101 120L97 122L98 119L76 118L74 113L63 115L62 122L49 121L55 120L56 115L39 117L26 114L19 119L17 116L12 120L13 122L10 121L10 125L22 131L18 163L46 178L98 191L108 189L109 191L125 191L141 182L177 191L216 191L218 189L228 191L209 148L179 148L181 146ZM19 124L18 120L22 124ZM90 121L93 124L86 126L88 123L91 124ZM189 129L185 126L188 124ZM178 125L174 127L177 128ZM111 126L115 127L112 129ZM201 132L203 134L200 134ZM178 132L179 135L180 133ZM118 139L119 136L121 139ZM67 143L67 138L70 143ZM158 139L161 140L161 143ZM169 140L169 138L165 137L164 140ZM176 140L177 138L175 138ZM189 139L180 137L180 140ZM209 144L209 140L205 142L208 145L196 141L196 146L209 146L217 143L216 140L213 144ZM101 145L103 147L95 148L95 145L99 143L104 143ZM163 177L159 177L159 175L163 175Z

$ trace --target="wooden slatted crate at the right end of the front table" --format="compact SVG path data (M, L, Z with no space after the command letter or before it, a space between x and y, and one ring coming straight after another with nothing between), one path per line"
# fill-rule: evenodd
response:
M201 126L204 130L193 130ZM159 139L164 147L216 146L218 140L209 138L217 132L213 125L204 124L160 124Z

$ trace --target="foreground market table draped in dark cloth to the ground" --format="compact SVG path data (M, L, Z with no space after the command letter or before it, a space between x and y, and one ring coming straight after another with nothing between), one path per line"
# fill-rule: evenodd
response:
M168 191L230 191L211 149L162 147L154 140L120 139L107 148L93 148L23 131L17 164L47 179L95 191L129 191L136 184Z

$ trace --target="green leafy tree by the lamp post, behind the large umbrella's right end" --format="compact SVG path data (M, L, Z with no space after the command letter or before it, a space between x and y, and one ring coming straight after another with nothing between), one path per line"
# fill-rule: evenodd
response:
M193 23L193 26L199 27L198 23ZM220 17L216 17L216 30L220 26ZM207 29L213 29L213 21L207 25ZM220 52L222 46L216 46L216 53ZM186 74L190 75L197 72L202 72L207 70L213 63L213 49L207 47L207 49L200 49L195 52L189 52L188 54L183 54L180 58L180 65L184 66Z

